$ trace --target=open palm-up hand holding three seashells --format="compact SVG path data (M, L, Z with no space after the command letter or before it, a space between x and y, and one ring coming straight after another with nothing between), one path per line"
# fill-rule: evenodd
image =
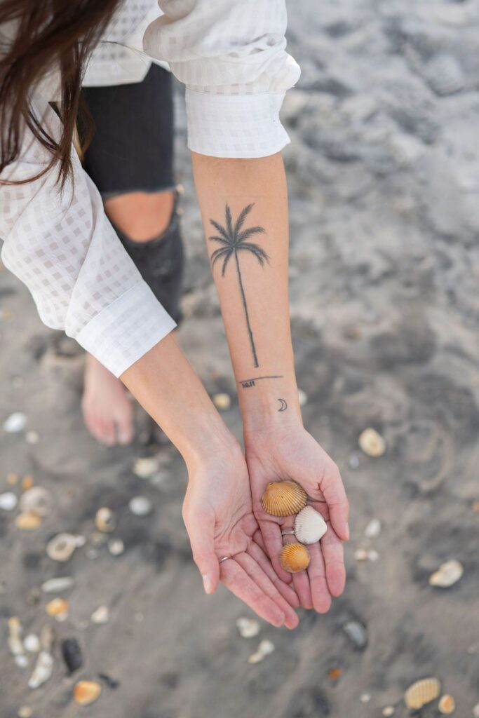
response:
M245 434L246 462L251 481L254 514L261 528L264 546L276 573L293 582L301 605L325 613L331 597L345 586L343 541L349 538L348 499L340 472L319 444L299 422L269 427L264 432ZM322 514L327 532L317 544L308 546L311 562L306 571L288 574L279 564L279 552L294 536L282 537L282 530L294 527L294 516L269 516L261 497L270 481L293 479L306 490L311 505Z

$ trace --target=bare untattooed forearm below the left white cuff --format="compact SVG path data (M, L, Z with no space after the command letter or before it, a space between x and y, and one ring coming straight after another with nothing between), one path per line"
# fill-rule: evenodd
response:
M189 470L208 460L215 447L228 451L236 444L175 335L131 365L121 381L175 444Z

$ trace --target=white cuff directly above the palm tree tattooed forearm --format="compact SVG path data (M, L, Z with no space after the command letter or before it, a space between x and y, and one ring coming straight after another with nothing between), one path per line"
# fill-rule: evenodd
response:
M188 147L210 157L268 157L289 144L279 121L285 93L213 95L186 90Z

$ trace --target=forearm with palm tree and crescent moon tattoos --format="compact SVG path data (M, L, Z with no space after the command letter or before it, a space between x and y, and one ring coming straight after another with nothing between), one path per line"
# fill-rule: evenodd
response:
M216 159L192 153L192 162L245 432L300 421L289 326L282 157ZM226 205L233 235L242 211L253 205L233 241L228 240ZM256 231L241 239L251 228Z

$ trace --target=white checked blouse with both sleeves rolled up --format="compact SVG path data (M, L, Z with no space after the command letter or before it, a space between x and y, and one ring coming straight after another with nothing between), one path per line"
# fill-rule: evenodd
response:
M152 60L167 62L186 85L190 149L266 157L289 142L279 109L299 78L285 50L286 23L282 0L125 0L93 52L85 84L139 82ZM49 78L32 106L57 135L60 121L48 104L54 87ZM26 132L19 159L0 180L32 177L49 161ZM48 327L65 330L120 376L175 322L118 240L74 149L72 162L63 192L56 168L25 185L0 185L1 259L27 285Z

